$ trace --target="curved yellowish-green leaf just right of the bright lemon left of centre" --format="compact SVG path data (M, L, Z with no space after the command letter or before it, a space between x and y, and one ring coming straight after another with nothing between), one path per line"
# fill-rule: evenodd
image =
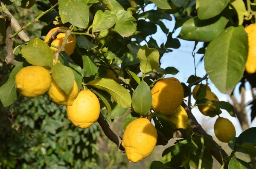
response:
M125 87L116 83L113 79L100 78L87 83L87 85L92 85L93 87L98 88L99 90L105 90L108 92L123 108L131 107L131 95L125 89Z

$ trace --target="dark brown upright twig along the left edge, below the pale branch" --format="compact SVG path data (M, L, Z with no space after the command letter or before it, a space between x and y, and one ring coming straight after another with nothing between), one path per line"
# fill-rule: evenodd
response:
M7 64L12 64L12 65L18 65L20 62L14 59L14 54L12 50L12 31L11 31L11 20L12 16L3 12L1 15L3 18L6 19L6 46L7 46L7 51L8 54L5 58L5 61Z

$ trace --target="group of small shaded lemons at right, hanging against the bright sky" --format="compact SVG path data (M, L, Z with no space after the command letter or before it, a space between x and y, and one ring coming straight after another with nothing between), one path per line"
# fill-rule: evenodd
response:
M204 85L204 86L206 86L205 98L208 99L209 101L202 105L198 105L198 109L203 115L206 115L209 117L215 117L216 116L215 111L217 107L212 105L212 103L214 101L219 101L218 97L214 93L212 93L209 86L207 85ZM200 85L196 85L192 92L195 100L197 100L196 93L198 92L199 87ZM230 138L233 138L236 136L236 130L232 122L229 119L222 118L222 117L218 117L217 120L215 121L214 133L219 141L222 141L225 143L228 143Z

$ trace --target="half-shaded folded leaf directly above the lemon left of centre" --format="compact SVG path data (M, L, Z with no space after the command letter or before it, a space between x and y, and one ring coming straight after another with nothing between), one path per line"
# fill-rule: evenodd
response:
M82 87L82 68L73 62L73 60L65 52L61 52L59 61L67 67L70 67L74 73L76 84L80 90Z

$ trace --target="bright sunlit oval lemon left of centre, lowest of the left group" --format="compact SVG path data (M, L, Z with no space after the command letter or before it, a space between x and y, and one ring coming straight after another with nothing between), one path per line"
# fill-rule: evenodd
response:
M76 127L88 128L99 118L99 100L90 90L82 90L73 101L67 105L67 118Z

